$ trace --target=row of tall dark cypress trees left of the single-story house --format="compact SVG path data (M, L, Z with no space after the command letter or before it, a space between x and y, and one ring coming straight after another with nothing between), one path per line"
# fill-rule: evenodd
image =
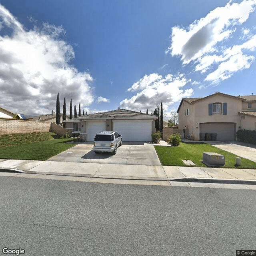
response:
M86 115L88 114L86 110ZM91 114L91 112L90 112ZM64 102L63 102L63 114L62 114L62 120L66 120L67 116L67 110L66 110L66 97L64 97ZM81 116L81 105L79 102L79 109L78 109L78 116ZM83 116L84 116L84 111L83 111ZM59 93L57 95L57 100L56 100L56 124L60 124L60 98L59 98ZM74 107L74 117L77 117L77 112L76 112L76 105ZM69 109L69 119L73 118L73 112L72 112L72 99L70 100L70 109ZM62 122L62 126L65 128L66 123Z

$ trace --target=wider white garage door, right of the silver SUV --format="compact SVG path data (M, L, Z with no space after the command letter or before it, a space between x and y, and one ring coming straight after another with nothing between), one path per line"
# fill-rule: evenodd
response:
M151 120L114 121L114 131L122 135L123 141L152 141Z

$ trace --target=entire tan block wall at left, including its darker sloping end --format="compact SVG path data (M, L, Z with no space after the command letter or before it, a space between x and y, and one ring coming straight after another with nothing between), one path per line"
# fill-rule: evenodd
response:
M0 120L0 135L26 132L55 132L60 136L66 135L66 129L55 123L21 121L12 119Z

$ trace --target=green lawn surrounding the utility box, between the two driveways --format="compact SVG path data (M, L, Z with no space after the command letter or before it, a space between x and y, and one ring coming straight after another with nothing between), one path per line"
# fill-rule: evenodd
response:
M207 167L201 162L203 152L215 152L225 156L225 165L222 168L256 169L256 163L241 157L242 165L236 167L236 155L221 150L209 144L180 143L178 147L155 146L156 152L162 165L187 166L182 160L191 160L198 167Z

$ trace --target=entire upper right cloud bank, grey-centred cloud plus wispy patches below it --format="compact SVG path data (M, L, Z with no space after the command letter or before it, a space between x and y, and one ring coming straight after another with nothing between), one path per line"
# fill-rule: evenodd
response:
M224 7L218 7L204 18L195 20L185 28L172 28L172 44L166 50L172 56L180 56L183 65L192 62L196 64L195 71L205 73L205 81L218 83L232 76L235 72L249 68L254 56L248 56L248 51L255 51L256 37L250 35L249 28L242 28L247 39L240 45L234 45L234 32L254 12L256 0L244 0ZM225 42L225 44L224 44ZM226 45L231 45L229 48ZM234 61L234 63L232 62ZM213 69L213 70L212 70Z

